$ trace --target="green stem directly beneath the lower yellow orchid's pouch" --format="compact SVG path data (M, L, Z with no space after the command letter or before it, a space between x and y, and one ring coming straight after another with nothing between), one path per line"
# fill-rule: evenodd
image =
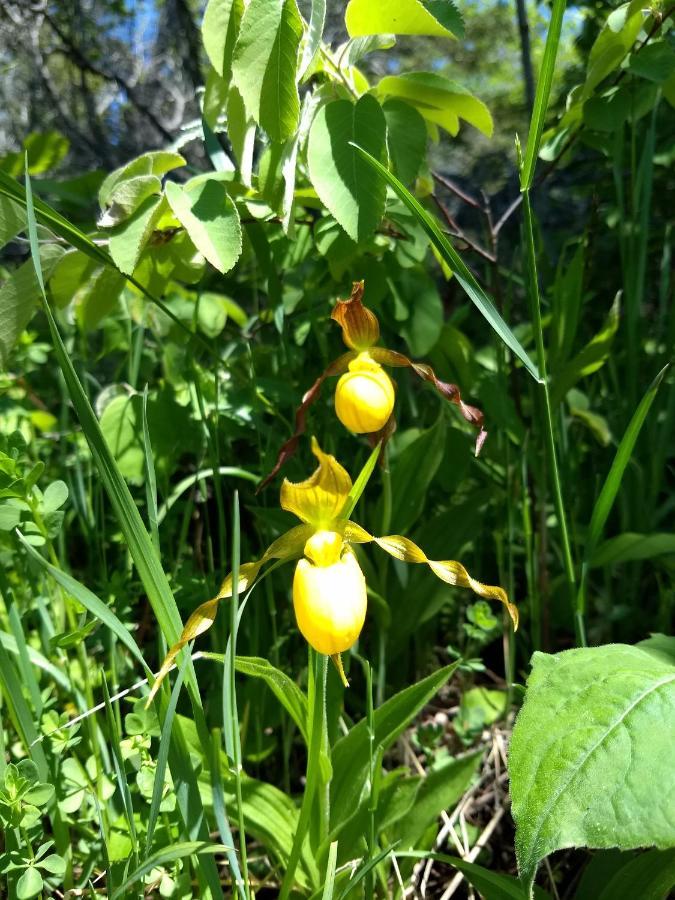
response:
M300 861L302 847L309 830L312 818L314 797L321 778L321 745L323 741L324 721L326 716L326 674L328 670L328 657L317 653L309 647L308 664L308 746L307 746L307 774L305 778L305 792L302 797L298 826L293 838L293 846L288 857L288 864L281 883L279 900L288 900L293 888L295 870Z

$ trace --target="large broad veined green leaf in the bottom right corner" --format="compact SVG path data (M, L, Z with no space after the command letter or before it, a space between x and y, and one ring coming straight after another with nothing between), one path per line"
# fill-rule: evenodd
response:
M639 647L535 653L509 773L521 877L565 847L675 844L675 665Z

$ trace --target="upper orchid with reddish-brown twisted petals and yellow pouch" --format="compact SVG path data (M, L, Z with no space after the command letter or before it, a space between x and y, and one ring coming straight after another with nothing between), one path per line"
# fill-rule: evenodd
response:
M368 434L373 446L386 442L393 433L395 389L391 378L382 366L410 368L424 381L432 384L438 393L454 403L467 422L479 429L476 438L476 456L483 446L487 432L483 428L483 413L462 400L456 384L449 384L436 377L431 366L408 359L386 347L376 347L380 326L375 314L363 305L364 283L355 281L347 300L338 300L331 318L342 328L342 338L349 347L319 375L304 394L295 414L295 431L279 451L276 464L258 486L262 490L274 478L282 465L295 453L300 435L305 430L305 418L309 407L319 396L326 378L340 375L335 390L335 412L345 428L355 434Z

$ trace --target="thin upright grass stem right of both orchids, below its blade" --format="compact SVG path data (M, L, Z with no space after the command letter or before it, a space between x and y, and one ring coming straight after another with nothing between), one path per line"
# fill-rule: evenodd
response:
M570 546L569 532L567 530L567 517L560 484L560 472L555 448L555 436L553 432L553 414L551 411L551 397L548 388L548 376L546 374L546 349L544 347L544 334L541 324L541 298L539 296L539 282L537 277L537 260L534 247L534 228L532 222L532 207L530 205L529 190L523 191L523 216L525 226L525 251L526 266L529 278L529 294L532 306L532 323L534 338L537 348L537 366L541 377L541 393L544 406L544 438L546 442L546 457L548 470L553 482L553 502L555 505L558 527L560 529L560 542L562 545L563 566L565 581L569 595L570 606L574 617L574 632L577 645L586 646L586 634L584 628L583 613L577 606L577 586L572 550Z

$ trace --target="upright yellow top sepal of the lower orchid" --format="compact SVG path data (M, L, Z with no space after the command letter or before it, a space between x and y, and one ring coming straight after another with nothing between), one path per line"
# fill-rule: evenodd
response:
M340 515L352 480L334 456L323 452L316 438L312 438L312 453L319 460L318 469L298 484L285 479L281 485L281 506L303 522L325 528Z

